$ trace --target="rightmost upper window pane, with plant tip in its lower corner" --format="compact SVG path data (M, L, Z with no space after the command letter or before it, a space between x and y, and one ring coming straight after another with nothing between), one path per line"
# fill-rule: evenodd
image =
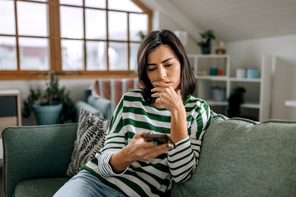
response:
M148 32L148 16L147 14L129 14L129 33L130 40L140 41L140 37L137 35L139 31L143 31L144 34Z

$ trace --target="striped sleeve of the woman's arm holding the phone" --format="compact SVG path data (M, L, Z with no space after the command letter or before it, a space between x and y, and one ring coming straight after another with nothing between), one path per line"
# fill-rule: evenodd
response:
M123 96L124 97L124 96ZM107 130L104 146L98 152L100 155L98 159L99 170L104 177L119 176L126 172L127 168L120 174L113 172L109 164L111 156L126 146L125 133L123 130L122 111L123 111L123 97L117 105L112 116L109 128Z

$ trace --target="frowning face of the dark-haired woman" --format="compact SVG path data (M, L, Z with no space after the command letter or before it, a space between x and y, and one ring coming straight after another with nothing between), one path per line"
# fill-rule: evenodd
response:
M147 56L147 76L151 82L160 81L177 92L181 80L181 64L169 45L160 45Z

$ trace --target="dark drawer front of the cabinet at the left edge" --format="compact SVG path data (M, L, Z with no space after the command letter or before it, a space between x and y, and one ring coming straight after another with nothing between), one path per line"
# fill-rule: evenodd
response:
M17 97L0 97L0 117L17 115Z

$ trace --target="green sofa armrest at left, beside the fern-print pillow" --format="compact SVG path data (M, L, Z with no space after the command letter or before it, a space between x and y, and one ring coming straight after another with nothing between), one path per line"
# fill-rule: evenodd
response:
M7 197L28 179L65 177L77 123L6 127L3 140L3 185Z

